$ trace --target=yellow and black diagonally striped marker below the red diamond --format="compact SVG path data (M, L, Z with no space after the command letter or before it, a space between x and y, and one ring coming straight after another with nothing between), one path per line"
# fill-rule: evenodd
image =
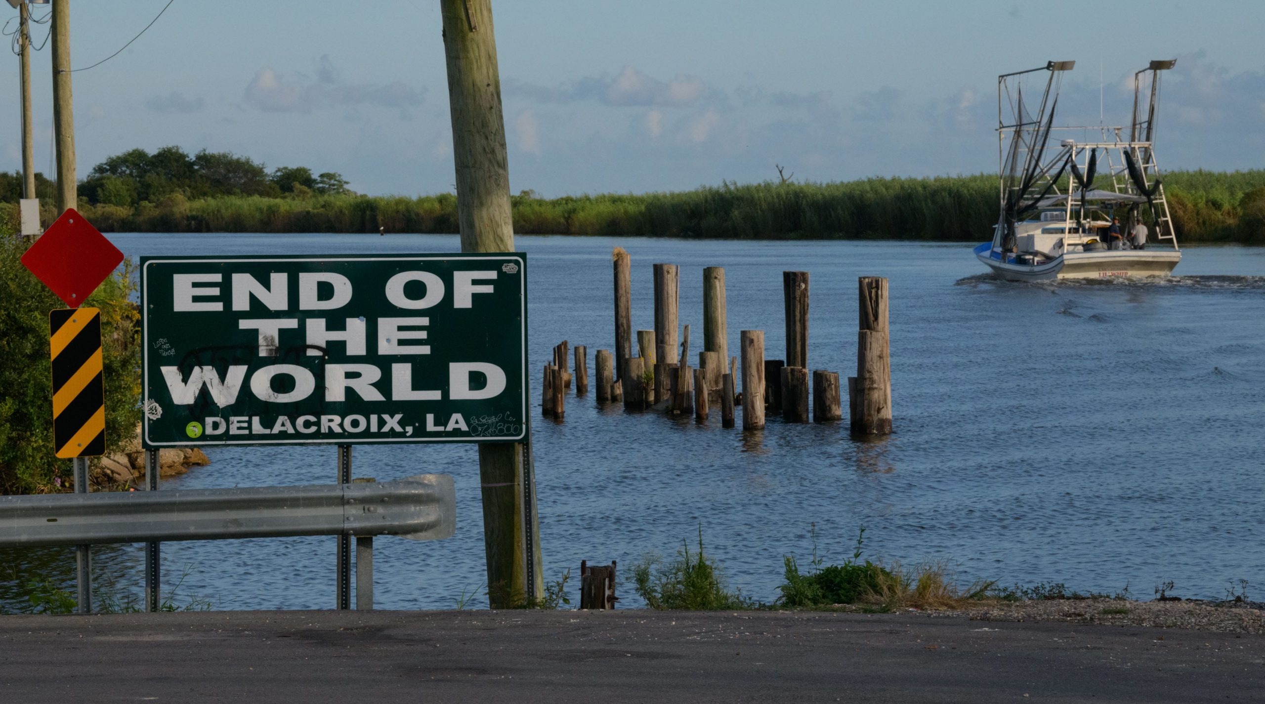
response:
M53 446L58 458L105 454L101 311L49 311L53 355Z

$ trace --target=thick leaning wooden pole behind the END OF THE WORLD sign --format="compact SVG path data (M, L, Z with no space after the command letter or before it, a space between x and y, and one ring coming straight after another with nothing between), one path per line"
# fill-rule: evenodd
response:
M67 0L57 1L65 5ZM444 21L462 252L514 252L492 1L440 0L439 6ZM478 446L487 594L493 609L544 598L535 476L531 463L524 459L524 446L519 444Z

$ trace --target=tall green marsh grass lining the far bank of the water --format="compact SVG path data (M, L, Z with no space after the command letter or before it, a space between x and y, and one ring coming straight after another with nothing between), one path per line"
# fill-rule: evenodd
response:
M1265 241L1265 169L1165 173L1184 243ZM813 183L721 182L693 191L511 198L524 235L982 241L997 222L997 178L864 178ZM16 205L8 206L16 212ZM457 196L319 195L190 198L135 206L83 203L102 231L455 233ZM46 214L52 221L52 212Z

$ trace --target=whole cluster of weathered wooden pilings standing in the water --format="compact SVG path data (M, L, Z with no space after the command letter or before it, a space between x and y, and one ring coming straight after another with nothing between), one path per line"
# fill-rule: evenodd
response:
M763 428L765 413L779 413L784 422L842 420L839 374L826 369L815 369L811 377L808 373L808 272L782 272L786 359L765 359L763 330L743 330L739 355L729 355L725 269L705 268L703 349L698 353L698 367L691 368L689 325L681 326L678 320L679 268L654 265L654 330L636 331L634 356L630 258L622 248L616 248L612 260L615 350L597 350L595 358L598 403L622 401L626 408L693 413L698 421L706 421L713 408L720 408L724 427L734 427L735 407L741 407L744 430ZM892 432L887 279L861 277L859 302L856 375L848 378L851 430L884 435ZM544 369L545 417L565 416L565 389L572 385L569 360L568 343L563 341L554 348L553 364ZM574 361L576 394L583 396L588 393L584 346L576 348Z

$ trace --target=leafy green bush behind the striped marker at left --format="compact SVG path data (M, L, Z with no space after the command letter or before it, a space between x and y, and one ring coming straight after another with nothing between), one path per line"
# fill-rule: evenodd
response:
M53 458L52 364L48 312L66 306L20 263L27 250L0 222L0 493L66 489L71 460ZM130 442L140 420L138 313L129 302L133 272L108 278L85 306L101 310L108 451Z

